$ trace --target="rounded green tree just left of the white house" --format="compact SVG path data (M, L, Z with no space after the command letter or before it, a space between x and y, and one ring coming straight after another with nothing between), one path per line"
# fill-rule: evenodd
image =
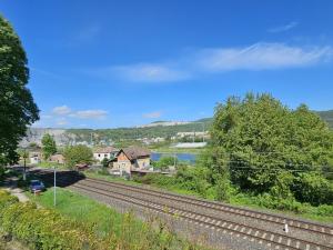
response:
M65 164L72 169L75 164L92 163L92 150L87 146L79 144L79 146L70 146L64 149L63 152Z

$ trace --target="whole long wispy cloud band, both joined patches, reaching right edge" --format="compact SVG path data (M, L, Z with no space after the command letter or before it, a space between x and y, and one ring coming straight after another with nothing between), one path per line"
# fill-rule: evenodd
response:
M184 81L202 74L234 70L278 70L331 61L333 48L259 42L248 47L205 48L165 63L110 66L90 73L107 80L159 83ZM167 60L165 60L167 61Z

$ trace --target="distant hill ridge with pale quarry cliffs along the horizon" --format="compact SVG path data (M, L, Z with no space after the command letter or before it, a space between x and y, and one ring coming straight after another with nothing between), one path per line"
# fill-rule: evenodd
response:
M333 129L333 110L316 111ZM39 129L31 128L27 139L22 140L21 146L30 142L40 143L44 133L50 133L56 139L57 144L69 144L78 142L90 143L92 141L121 141L135 140L140 138L171 138L178 132L192 132L209 130L213 118L203 118L195 121L155 121L147 126L134 128L115 129Z

